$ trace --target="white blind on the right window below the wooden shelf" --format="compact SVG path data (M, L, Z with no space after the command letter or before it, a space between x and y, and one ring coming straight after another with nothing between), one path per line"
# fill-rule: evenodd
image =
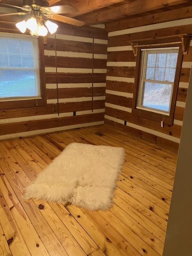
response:
M136 108L169 116L179 47L141 49Z

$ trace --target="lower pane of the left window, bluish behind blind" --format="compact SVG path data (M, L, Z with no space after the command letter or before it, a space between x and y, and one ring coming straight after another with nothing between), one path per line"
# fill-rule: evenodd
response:
M34 70L0 70L0 97L37 96Z

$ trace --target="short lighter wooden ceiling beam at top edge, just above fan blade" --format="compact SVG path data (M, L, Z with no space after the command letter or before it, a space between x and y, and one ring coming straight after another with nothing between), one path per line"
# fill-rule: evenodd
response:
M92 12L103 7L107 7L111 4L117 4L123 2L124 0L85 0L80 1L77 4L73 4L77 8L78 12L68 15L69 17L75 17L82 15L87 12Z

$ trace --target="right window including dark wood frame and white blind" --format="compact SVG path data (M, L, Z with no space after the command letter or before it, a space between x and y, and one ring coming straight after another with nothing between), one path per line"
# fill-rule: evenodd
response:
M165 119L164 123L172 124L182 60L180 51L179 46L140 48L133 114L155 121Z

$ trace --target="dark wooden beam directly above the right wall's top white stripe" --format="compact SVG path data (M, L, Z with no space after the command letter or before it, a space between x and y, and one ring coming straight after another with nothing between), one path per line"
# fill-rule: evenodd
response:
M192 6L174 9L171 11L150 14L144 17L133 18L130 20L114 21L105 24L107 32L136 28L150 24L157 24L166 21L180 20L192 17Z

